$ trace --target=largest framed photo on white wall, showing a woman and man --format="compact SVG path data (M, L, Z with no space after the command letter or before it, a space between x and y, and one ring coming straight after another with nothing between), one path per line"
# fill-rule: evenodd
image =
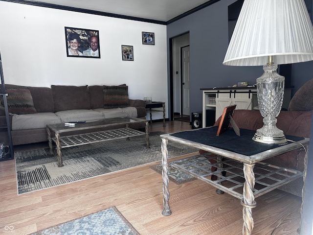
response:
M99 30L65 27L67 57L100 58Z

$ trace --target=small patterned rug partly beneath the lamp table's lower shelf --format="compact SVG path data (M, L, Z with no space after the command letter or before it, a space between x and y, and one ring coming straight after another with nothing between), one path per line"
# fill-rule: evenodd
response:
M160 164L152 165L150 166L150 168L162 174L162 166ZM174 182L177 185L196 180L195 177L183 172L182 170L176 169L171 165L169 165L168 167L168 177L170 181Z

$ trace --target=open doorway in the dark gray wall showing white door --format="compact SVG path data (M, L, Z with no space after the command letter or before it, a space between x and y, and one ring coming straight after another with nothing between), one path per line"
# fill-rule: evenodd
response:
M171 120L189 120L189 32L170 39Z

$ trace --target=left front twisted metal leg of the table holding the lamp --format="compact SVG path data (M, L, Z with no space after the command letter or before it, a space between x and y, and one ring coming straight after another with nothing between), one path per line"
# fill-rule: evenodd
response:
M169 199L170 199L170 192L168 190L168 151L167 151L167 140L162 139L162 145L161 145L161 151L162 151L162 179L163 179L163 215L170 215L172 214L172 211L170 209L169 205Z

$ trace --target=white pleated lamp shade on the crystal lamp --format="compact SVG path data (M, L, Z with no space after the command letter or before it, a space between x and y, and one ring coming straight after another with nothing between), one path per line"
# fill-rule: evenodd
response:
M313 26L304 0L245 0L224 65L260 66L313 60Z

